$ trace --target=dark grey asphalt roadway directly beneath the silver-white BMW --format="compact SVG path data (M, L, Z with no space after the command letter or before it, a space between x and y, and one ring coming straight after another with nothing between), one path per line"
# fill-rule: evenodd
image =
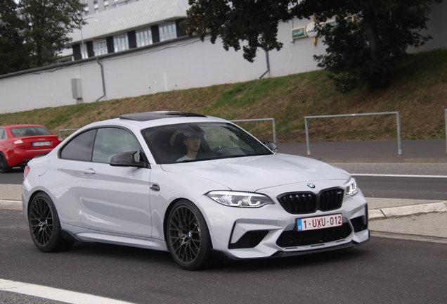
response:
M41 253L20 211L0 210L0 222L0 278L132 303L447 301L441 243L372 238L343 251L187 272L169 253L140 248L75 243L70 251Z

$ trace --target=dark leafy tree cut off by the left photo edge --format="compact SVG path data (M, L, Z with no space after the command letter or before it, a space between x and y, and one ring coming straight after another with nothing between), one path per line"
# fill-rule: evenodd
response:
M0 2L0 75L29 68L30 61L22 37L25 23L19 18L14 0Z

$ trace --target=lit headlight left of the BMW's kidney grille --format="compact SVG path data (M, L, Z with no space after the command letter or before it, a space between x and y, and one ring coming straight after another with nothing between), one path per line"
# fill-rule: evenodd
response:
M217 203L232 207L261 207L266 204L274 204L268 196L250 192L235 191L211 191L207 196Z

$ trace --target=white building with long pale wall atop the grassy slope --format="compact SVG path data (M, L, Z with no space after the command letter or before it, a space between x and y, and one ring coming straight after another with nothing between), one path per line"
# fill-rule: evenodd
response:
M259 50L249 63L219 39L186 36L179 22L187 2L141 0L89 13L88 24L72 33L74 61L0 75L0 113L290 75L316 70L313 55L325 53L319 38L316 45L305 35L294 39L309 20L292 20L278 25L283 49ZM434 4L428 23L434 39L413 51L447 46L446 16L446 2Z

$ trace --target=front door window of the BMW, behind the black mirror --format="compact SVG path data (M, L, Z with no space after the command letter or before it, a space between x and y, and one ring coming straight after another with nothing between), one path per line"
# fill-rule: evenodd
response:
M110 158L118 153L137 151L134 158L138 161L140 150L140 144L130 132L118 128L102 128L96 133L91 160L96 163L109 163Z

